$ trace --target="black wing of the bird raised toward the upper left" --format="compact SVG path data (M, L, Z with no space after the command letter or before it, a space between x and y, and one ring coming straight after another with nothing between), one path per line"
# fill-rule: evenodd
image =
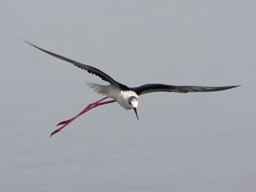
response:
M26 41L24 41L24 42L26 42ZM26 43L29 44L29 42L26 42ZM32 45L32 44L29 44L29 45ZM36 47L35 45L32 45L32 46ZM59 58L59 59L64 60L64 61L68 61L69 63L72 63L73 65L76 65L79 68L83 68L84 70L87 70L90 74L92 73L92 74L95 74L96 76L99 76L102 80L108 81L108 83L115 85L116 88L118 88L118 90L120 90L120 91L131 90L131 88L129 88L128 86L125 86L124 84L118 83L117 81L115 81L114 79L109 77L107 74L105 74L104 72L102 72L101 70L99 70L99 69L97 69L95 67L91 67L89 65L84 65L82 63L78 63L77 61L70 60L68 58L60 56L60 55L55 54L53 52L41 49L39 47L36 47L36 48L40 49L41 51L44 51L44 52L46 52L48 54L51 54L51 56L54 56L54 57Z

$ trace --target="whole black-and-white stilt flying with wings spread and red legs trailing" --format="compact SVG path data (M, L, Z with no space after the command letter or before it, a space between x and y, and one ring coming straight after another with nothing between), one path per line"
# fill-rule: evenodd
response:
M23 40L26 42L25 40ZM29 42L26 42L30 44ZM36 47L33 44L30 44L33 47ZM108 104L111 102L118 102L120 106L123 108L129 110L129 109L134 109L136 116L138 118L137 114L137 107L139 104L139 99L138 97L140 95L144 95L146 93L152 93L152 92L177 92L177 93L188 93L188 92L218 92L218 91L223 91L223 90L228 90L231 88L235 88L237 86L174 86L174 85L169 85L169 84L144 84L142 86L130 88L129 86L126 86L124 84L118 83L114 79L112 79L110 76L102 72L101 70L91 67L89 65L84 65L82 63L79 63L74 60L70 60L68 58L65 58L63 56L60 56L59 54L55 54L50 51L46 51L44 49L41 49L40 47L36 47L37 49L46 52L47 54L51 54L51 56L54 56L56 58L59 58L64 61L68 61L69 63L72 63L73 65L76 65L79 68L82 68L84 70L87 70L90 74L95 74L96 76L99 76L102 80L107 81L110 83L109 85L100 85L100 84L95 84L95 83L88 83L88 86L90 88L93 88L95 92L101 95L107 95L103 99L98 100L97 102L93 102L92 104L89 104L81 113L79 113L77 116L74 118L71 118L70 120L66 120L63 122L60 122L58 125L63 125L59 129L56 129L56 131L51 133L51 136L55 134L56 132L61 131L65 126L70 124L73 120L75 120L78 116L82 115L83 113L86 113L90 109L96 108L97 106L101 106L104 104ZM114 100L106 101L106 102L101 102L104 99L107 98L112 98ZM139 120L139 118L138 118ZM57 125L57 126L58 126ZM51 137L50 136L50 137Z

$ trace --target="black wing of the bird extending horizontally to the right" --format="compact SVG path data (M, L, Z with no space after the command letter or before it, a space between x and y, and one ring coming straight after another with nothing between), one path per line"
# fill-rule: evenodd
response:
M152 92L218 92L235 87L237 86L174 86L168 84L144 84L143 86L131 88L131 90L136 92L137 95L143 95Z

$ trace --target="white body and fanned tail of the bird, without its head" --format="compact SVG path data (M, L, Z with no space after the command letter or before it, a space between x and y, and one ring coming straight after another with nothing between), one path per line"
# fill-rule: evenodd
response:
M120 91L113 84L104 86L100 84L88 83L88 86L93 88L93 91L97 92L98 94L108 95L109 98L115 99L120 106L127 110L132 109L132 106L128 103L129 97L134 96L138 98L138 95L135 92Z

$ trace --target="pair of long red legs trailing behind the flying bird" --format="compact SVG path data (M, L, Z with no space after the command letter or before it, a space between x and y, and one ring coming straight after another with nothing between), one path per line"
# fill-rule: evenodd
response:
M108 103L111 103L111 102L116 102L115 100L109 100L109 101L106 101L106 102L100 102L100 101L102 101L104 99L107 99L107 98L108 97L105 97L105 98L103 98L101 100L98 100L97 102L93 102L92 104L89 104L83 111L81 111L81 113L79 113L74 118L71 118L70 120L66 120L66 121L60 122L60 124L58 124L58 125L64 125L64 126L60 127L59 129L56 129L54 132L52 132L51 136L54 135L56 132L61 131L61 129L66 127L68 124L70 124L73 120L75 120L78 116L82 115L83 113L86 113L87 111L89 111L89 110L91 110L93 108L96 108L97 106L102 106L104 104L108 104ZM51 136L50 136L50 138L51 138Z

